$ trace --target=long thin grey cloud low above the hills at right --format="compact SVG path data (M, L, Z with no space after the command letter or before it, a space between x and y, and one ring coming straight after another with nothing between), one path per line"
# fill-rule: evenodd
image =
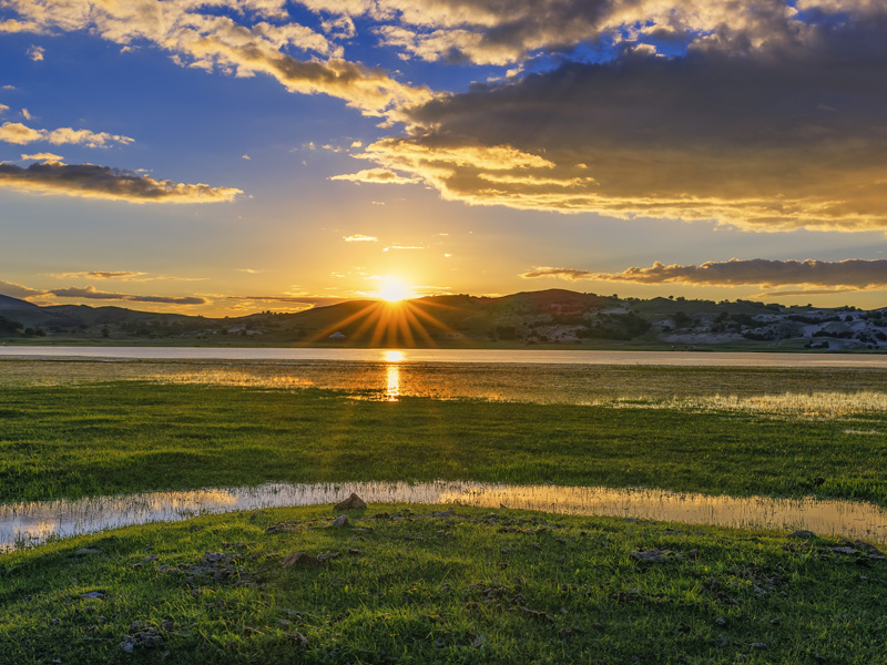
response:
M649 268L628 268L622 273L594 273L575 268L533 268L521 275L561 277L572 282L623 282L629 284L686 284L695 286L808 285L814 287L887 288L887 259L848 258L839 262L771 260L765 258L706 262L699 266L665 265L655 262Z

